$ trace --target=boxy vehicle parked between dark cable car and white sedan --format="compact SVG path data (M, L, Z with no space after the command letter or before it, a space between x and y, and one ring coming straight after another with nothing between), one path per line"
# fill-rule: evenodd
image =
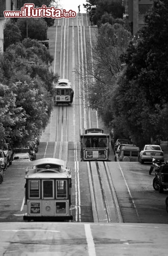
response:
M134 145L120 145L117 148L115 161L138 162L139 147Z

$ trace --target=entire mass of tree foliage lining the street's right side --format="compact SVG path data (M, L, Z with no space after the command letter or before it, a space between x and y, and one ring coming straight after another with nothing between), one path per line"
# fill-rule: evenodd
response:
M155 0L146 26L134 38L122 22L116 24L114 14L103 14L104 25L93 43L93 68L87 63L88 76L95 79L89 103L119 136L140 146L157 135L167 138L167 14L168 2Z

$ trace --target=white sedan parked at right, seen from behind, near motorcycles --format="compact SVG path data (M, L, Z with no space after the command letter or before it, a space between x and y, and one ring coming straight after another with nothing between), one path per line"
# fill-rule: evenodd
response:
M139 154L139 162L152 162L152 157L154 157L156 161L164 162L164 155L160 145L145 145Z

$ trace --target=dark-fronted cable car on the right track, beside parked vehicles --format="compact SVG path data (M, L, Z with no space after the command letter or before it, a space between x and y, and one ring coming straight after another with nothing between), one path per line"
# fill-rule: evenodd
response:
M102 129L86 129L80 135L81 161L108 161L109 135Z

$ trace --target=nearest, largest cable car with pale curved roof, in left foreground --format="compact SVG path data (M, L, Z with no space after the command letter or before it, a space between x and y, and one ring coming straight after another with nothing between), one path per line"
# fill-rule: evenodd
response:
M72 220L71 169L56 158L43 158L26 169L23 220Z

